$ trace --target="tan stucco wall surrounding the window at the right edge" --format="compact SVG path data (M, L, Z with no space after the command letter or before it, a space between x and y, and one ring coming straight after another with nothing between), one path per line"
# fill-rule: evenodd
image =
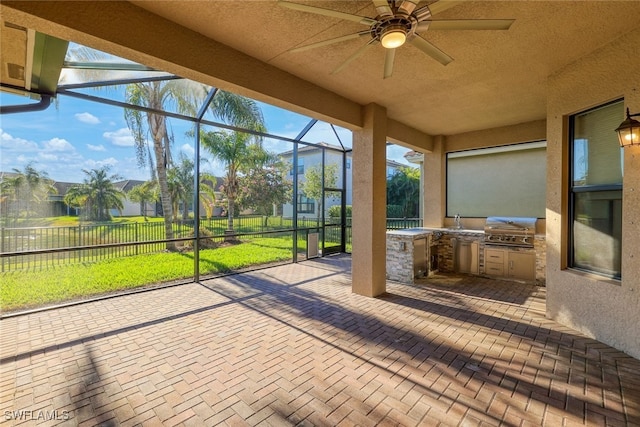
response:
M624 150L622 280L568 269L566 248L567 117L621 97L631 112L640 112L638 46L640 28L555 73L548 81L547 104L547 315L636 358L640 358L640 147Z

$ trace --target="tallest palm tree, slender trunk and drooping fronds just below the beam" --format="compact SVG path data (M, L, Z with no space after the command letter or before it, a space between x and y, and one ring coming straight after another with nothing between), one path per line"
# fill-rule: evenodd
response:
M151 169L155 169L167 239L173 238L174 215L167 182L173 138L167 128L167 116L161 111L177 109L180 113L195 115L207 93L206 86L183 79L134 83L126 88L127 102L145 108L144 111L126 109L125 119L136 141L138 163L142 166L148 161ZM254 130L263 128L262 113L255 102L239 95L218 91L209 108L215 117L233 125ZM147 135L151 136L152 148L147 146ZM168 242L167 249L174 250L175 244Z

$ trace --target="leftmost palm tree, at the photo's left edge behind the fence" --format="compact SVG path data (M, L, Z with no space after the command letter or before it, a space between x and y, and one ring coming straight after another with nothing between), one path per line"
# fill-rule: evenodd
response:
M19 216L22 203L28 217L32 213L32 203L39 205L47 200L49 194L58 192L47 172L37 170L33 163L28 163L23 170L14 168L13 172L13 176L3 176L0 179L0 200L5 206L3 211L7 216L9 205L14 206L16 217Z

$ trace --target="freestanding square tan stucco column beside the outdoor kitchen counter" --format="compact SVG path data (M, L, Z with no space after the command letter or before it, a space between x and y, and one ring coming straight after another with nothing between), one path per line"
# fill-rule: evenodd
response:
M363 108L363 128L353 133L352 287L359 295L386 292L387 111Z

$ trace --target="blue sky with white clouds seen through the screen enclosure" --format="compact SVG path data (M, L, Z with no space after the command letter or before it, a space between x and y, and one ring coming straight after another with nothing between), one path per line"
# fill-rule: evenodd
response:
M105 96L104 93L99 95ZM22 97L0 93L2 105L24 102ZM308 117L293 112L260 105L271 134L294 138L309 121ZM192 157L193 137L185 135L191 124L170 119L170 126L175 138L174 158L180 153ZM351 133L339 129L338 134L343 144L350 147ZM333 130L322 122L318 122L303 140L339 145ZM291 149L290 144L276 140L267 140L265 146L271 151ZM406 148L390 146L387 157L406 164L403 158L406 152ZM206 154L203 156L206 158ZM64 95L44 111L0 116L0 171L22 170L29 163L46 171L49 178L63 182L82 182L83 169L105 165L123 179L150 178L148 167L137 164L134 140L121 108ZM203 163L201 168L218 176L223 172L222 166L215 161Z

